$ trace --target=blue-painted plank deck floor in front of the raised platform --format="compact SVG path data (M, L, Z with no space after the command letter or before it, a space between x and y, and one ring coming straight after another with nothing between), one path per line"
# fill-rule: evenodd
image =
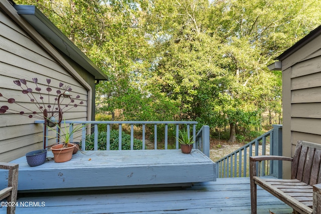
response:
M77 182L77 178L75 178ZM18 196L16 213L251 213L249 178L218 178L186 189L158 191L114 190L37 193ZM57 192L56 192L57 194ZM23 207L25 205L25 207ZM267 191L258 189L258 213L292 213ZM0 214L6 213L5 207Z

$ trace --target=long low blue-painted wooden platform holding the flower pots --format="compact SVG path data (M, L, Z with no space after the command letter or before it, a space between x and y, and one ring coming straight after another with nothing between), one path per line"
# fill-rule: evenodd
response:
M51 152L47 156L53 157ZM216 180L216 164L198 149L191 154L180 149L86 151L68 162L51 160L36 167L30 167L26 157L12 162L19 164L20 192L184 186ZM4 173L0 171L0 177ZM6 180L0 180L0 188L5 185Z

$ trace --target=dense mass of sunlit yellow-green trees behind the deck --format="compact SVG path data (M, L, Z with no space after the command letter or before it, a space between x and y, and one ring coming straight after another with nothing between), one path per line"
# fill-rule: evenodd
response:
M105 110L124 119L197 120L239 130L281 114L267 65L321 23L321 0L26 0L109 77ZM280 116L279 116L280 117Z

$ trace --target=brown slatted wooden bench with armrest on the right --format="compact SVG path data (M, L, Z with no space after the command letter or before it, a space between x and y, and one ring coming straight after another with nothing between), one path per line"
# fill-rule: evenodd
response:
M291 179L258 177L256 162L264 160L291 161ZM321 210L321 144L298 141L293 158L283 156L250 157L251 211L257 213L257 186L261 186L294 210L294 213L320 213ZM313 186L314 185L314 186ZM314 197L314 198L313 198ZM314 201L313 201L314 199ZM312 210L313 206L313 210Z

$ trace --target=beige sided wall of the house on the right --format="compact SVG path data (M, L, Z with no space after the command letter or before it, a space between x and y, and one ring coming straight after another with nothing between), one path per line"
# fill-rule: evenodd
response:
M278 57L282 62L283 155L298 140L321 144L321 28ZM289 175L285 166L283 174Z

